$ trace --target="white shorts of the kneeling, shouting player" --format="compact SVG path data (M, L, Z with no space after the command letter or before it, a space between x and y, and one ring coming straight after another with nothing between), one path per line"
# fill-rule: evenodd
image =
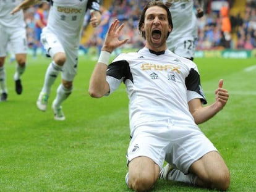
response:
M135 157L145 156L159 167L166 161L186 174L195 161L210 151L217 149L195 124L148 122L135 128L127 150L127 164Z

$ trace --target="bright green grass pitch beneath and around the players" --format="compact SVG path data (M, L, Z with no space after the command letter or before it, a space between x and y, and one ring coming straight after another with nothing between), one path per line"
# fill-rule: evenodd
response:
M0 191L130 191L124 184L129 144L128 99L124 86L108 98L88 96L95 61L80 56L74 91L62 104L66 120L56 122L36 109L50 60L28 57L17 95L15 65L6 62L7 102L0 102ZM229 90L228 104L200 125L221 152L231 172L229 191L254 191L256 138L256 59L195 59L208 102L214 101L218 80ZM159 181L152 191L208 191L183 183Z

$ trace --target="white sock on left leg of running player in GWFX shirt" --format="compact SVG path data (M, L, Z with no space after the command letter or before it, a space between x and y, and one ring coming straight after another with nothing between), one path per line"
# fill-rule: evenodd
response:
M52 61L49 64L48 69L46 70L46 73L45 73L45 83L42 89L43 93L46 93L48 95L51 93L51 86L55 82L61 70L62 70L62 66L57 65L54 61Z

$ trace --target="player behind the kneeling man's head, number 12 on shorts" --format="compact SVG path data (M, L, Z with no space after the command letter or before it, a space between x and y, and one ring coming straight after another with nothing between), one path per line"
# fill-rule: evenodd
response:
M203 16L203 10L200 7L197 8L197 14L195 14L194 1L164 1L169 7L174 26L167 40L168 49L192 61L198 37L197 17Z

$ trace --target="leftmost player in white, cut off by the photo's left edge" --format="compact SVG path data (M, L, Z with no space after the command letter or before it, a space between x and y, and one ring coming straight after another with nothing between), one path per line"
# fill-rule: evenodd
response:
M15 54L17 61L16 71L14 73L15 91L22 94L22 83L20 77L26 68L27 56L27 36L25 30L25 21L23 11L20 10L15 15L10 12L20 1L0 1L0 101L7 100L6 70L4 62L7 56L8 44L11 51Z

